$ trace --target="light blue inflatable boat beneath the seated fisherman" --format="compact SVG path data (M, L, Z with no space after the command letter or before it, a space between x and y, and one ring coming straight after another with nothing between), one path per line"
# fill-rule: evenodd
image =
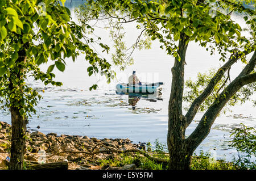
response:
M161 91L163 82L157 83L145 83L142 85L129 86L127 83L118 83L116 87L117 92L122 93L146 93L146 94L154 94L157 91Z

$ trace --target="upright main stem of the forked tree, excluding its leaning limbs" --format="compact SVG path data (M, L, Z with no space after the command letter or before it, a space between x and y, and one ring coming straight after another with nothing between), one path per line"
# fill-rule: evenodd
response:
M187 37L181 35L177 53L180 60L175 58L172 68L172 87L168 108L168 134L167 145L170 154L168 169L189 169L191 165L191 154L185 144L186 121L182 114L183 87L184 87L184 65L185 53L188 45L185 44Z

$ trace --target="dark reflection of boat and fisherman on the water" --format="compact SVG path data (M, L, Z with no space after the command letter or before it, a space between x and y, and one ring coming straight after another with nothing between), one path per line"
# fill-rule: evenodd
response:
M162 99L162 93L160 91L154 92L154 94L147 94L147 93L129 93L129 92L117 92L118 95L128 95L128 103L129 105L135 110L136 104L139 102L139 100L144 99L148 100L150 102L156 102L157 100L163 100Z

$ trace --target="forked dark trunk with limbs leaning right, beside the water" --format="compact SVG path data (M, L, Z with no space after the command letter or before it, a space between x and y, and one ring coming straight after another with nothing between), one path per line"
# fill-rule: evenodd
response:
M182 100L186 50L187 45L185 45L185 37L181 36L179 41L179 50L177 51L180 56L180 61L175 58L175 64L172 68L172 89L168 108L169 119L167 144L170 155L170 163L168 168L171 170L191 169L192 154L196 150L197 146L199 146L205 137L207 137L209 134L210 128L212 127L212 124L214 123L218 113L220 113L228 100L232 98L232 96L236 94L236 92L240 90L242 86L256 81L256 73L251 73L255 69L256 65L256 51L254 51L254 54L251 57L249 63L241 71L238 77L234 79L234 81L232 81L226 87L226 89L221 92L220 95L218 95L216 100L214 100L214 103L208 108L204 116L201 118L200 123L197 125L195 131L193 131L193 133L191 133L188 138L185 138L185 129L191 123L191 119L193 119L193 116L197 112L198 106L201 104L197 103L199 105L194 105L194 107L191 107L192 111L190 113L192 116L183 116ZM227 64L232 65L232 63L233 60L230 60ZM213 77L212 80L216 81L218 79ZM217 82L218 81L216 81L215 84ZM211 90L209 91L211 92Z

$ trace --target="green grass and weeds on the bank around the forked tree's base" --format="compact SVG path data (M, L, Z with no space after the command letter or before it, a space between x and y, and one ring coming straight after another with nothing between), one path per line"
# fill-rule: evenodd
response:
M233 131L233 133L237 133L238 131L241 131L241 129L236 129ZM245 132L245 130L243 130L243 132ZM246 134L249 135L250 133L246 132ZM233 140L236 140L236 137L238 137L238 135L236 135ZM239 137L240 137L239 148L241 148L241 145L242 145L241 135L239 135ZM250 140L254 140L254 139L250 139ZM249 146L248 142L249 141L247 139L247 141L244 143L245 145L247 145L246 148ZM255 140L251 142L252 143L254 142L255 144ZM233 143L234 141L232 141L232 144ZM167 146L165 144L159 143L158 140L156 140L154 144L155 144L155 148L154 150L152 150L152 145L150 144L150 142L147 143L147 151L151 151L152 157L168 159L169 157L167 154L168 153ZM234 144L233 146L236 147L236 145ZM237 148L237 150L239 149ZM215 160L212 157L212 155L210 155L210 153L200 150L199 155L194 154L192 156L191 169L192 170L241 170L241 169L256 170L255 163L250 162L250 159L248 159L251 157L252 152L250 151L246 153L247 155L244 155L244 156L238 155L238 159L234 158L232 162L226 162L224 160ZM156 163L155 161L152 161L151 159L148 159L139 153L122 153L117 155L117 157L115 158L104 159L104 160L100 160L99 162L101 167L103 168L109 167L109 166L122 167L122 166L134 163L138 169L146 169L146 170L168 169L167 163Z

